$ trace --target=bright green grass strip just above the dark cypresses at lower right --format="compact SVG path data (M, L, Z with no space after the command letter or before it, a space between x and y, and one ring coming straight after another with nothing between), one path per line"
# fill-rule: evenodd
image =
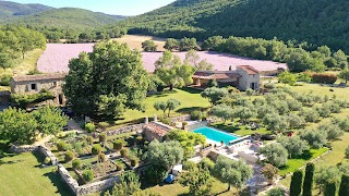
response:
M304 166L306 162L323 155L327 150L328 150L327 148L311 149L310 151L303 154L300 157L289 159L287 161L287 166L280 169L279 174L285 175L287 173L294 172L296 170Z

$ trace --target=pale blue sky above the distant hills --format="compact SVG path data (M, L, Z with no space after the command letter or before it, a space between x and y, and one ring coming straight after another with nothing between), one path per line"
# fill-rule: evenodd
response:
M137 15L164 7L174 0L9 0L19 3L40 3L53 8L81 8L115 15Z

